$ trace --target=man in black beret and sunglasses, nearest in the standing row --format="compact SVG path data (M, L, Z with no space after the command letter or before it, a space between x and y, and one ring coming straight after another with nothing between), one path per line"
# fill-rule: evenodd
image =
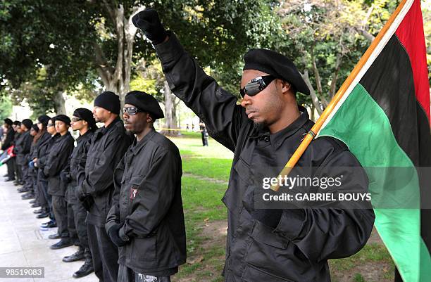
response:
M186 260L180 152L153 127L163 117L153 96L141 91L125 96L125 129L136 139L115 169L106 219L119 247L118 282L168 282Z

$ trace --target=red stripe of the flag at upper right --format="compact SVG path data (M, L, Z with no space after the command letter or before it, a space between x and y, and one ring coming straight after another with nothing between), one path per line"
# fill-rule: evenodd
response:
M416 99L430 118L430 86L428 84L427 58L425 37L423 34L422 11L420 0L413 2L410 10L396 30L396 36L404 46L411 61L413 79L415 81ZM431 123L430 123L431 124Z

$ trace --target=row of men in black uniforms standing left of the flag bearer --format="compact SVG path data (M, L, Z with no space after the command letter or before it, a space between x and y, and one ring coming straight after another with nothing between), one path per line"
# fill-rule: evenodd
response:
M49 238L60 241L51 249L79 247L63 257L85 260L73 277L94 271L99 281L170 281L186 258L180 153L153 127L163 117L153 96L130 92L125 122L119 115L119 97L106 91L92 111L78 108L71 120L23 120L28 137L4 143L15 145L22 160L18 191L40 207L34 211L38 218L49 217L41 229L58 227ZM80 132L76 141L70 127Z

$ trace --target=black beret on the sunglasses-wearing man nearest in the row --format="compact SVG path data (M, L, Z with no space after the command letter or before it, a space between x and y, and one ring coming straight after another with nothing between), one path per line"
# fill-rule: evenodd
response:
M154 119L163 118L163 110L161 110L160 105L156 98L150 94L146 94L142 91L130 91L124 98L125 104L135 105L135 107L143 110L146 113L150 113L151 117Z

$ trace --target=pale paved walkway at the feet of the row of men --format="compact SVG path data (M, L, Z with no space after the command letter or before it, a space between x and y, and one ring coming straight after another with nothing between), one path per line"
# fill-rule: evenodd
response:
M62 262L65 255L72 255L77 247L72 246L60 250L51 250L49 246L58 240L49 240L48 236L56 233L56 229L41 231L40 224L47 222L46 218L36 219L33 208L22 200L16 191L17 186L4 182L6 165L0 167L0 267L44 267L44 278L0 278L5 282L35 282L35 281L74 281L96 282L93 274L83 278L73 278L83 261Z

